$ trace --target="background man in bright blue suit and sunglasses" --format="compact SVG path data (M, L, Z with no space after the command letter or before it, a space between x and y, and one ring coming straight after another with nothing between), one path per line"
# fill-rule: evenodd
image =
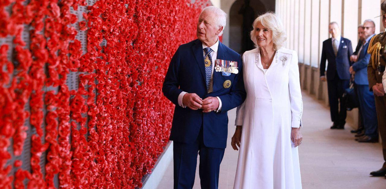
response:
M357 96L364 124L364 135L356 140L358 142L378 142L377 113L375 109L374 94L369 91L369 80L367 79L367 65L370 54L367 53L370 39L375 35L375 23L365 20L363 23L366 41L358 52L357 60L350 67L350 73L354 74L354 82L357 85Z

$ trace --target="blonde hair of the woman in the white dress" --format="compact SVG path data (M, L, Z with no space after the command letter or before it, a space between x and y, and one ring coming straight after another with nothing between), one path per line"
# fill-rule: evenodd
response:
M257 23L261 23L261 25L263 25L264 27L272 31L273 48L275 50L279 50L281 47L283 47L284 43L287 40L287 35L284 30L283 23L281 22L280 18L276 16L274 12L266 12L263 15L260 15L259 17L257 17L253 22L252 24L253 30L251 31L251 40L255 43L256 48L258 48L256 36L255 36Z

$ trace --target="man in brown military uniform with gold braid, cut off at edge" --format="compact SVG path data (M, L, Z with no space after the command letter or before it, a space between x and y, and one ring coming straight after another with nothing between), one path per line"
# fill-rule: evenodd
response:
M381 4L382 23L386 27L386 2ZM382 139L384 163L381 169L373 171L372 176L385 176L386 174L386 95L382 84L382 75L386 65L386 33L379 33L371 38L367 50L371 54L369 65L367 66L367 77L369 88L374 92L375 106L378 117L378 128Z

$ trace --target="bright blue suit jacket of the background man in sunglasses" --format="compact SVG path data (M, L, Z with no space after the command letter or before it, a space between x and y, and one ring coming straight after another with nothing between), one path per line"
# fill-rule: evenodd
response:
M371 55L367 53L368 48L369 42L363 45L361 52L359 52L358 61L352 64L352 69L355 71L354 82L357 85L369 84L369 80L367 79L367 65L369 65Z

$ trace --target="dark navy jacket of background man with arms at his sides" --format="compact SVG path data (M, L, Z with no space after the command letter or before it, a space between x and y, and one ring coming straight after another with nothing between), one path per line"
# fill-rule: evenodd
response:
M327 66L327 80L334 80L335 72L338 73L338 77L342 80L350 79L350 56L352 55L351 41L347 38L341 37L339 43L338 53L335 56L334 49L332 48L332 39L329 38L323 41L322 58L320 60L320 76L324 76L326 70L326 60L328 60Z

